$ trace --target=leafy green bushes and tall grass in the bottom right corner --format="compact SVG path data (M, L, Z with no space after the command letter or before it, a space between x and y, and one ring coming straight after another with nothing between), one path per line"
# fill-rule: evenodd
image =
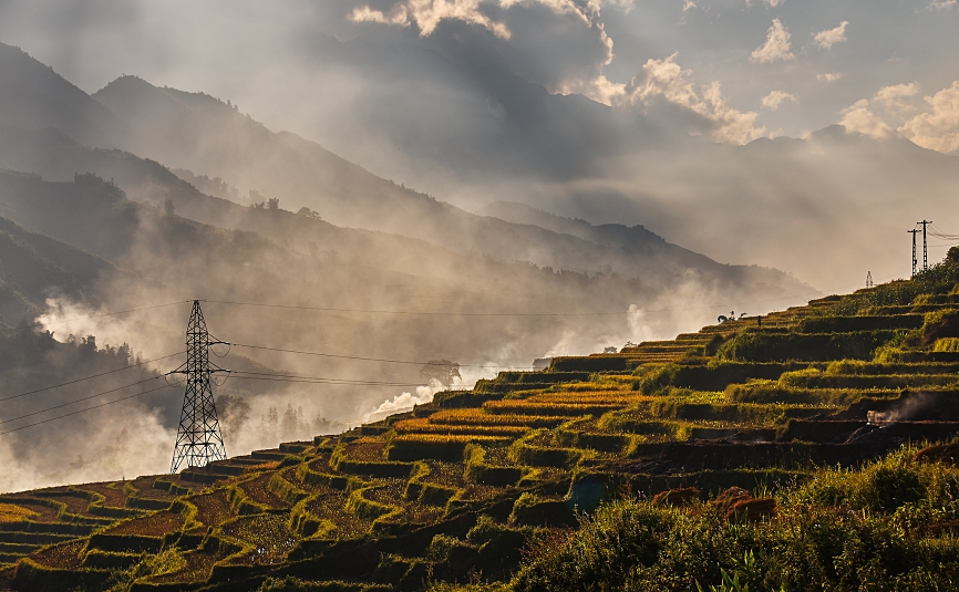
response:
M539 591L959 590L959 470L906 448L774 494L760 521L629 498L545 537L513 581ZM725 572L725 574L723 573ZM726 582L721 588L722 582Z

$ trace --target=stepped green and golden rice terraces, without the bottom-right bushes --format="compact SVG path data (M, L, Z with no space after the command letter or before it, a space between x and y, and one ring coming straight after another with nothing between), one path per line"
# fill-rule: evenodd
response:
M2 496L0 561L17 563L20 590L73 577L137 590L508 579L530 541L605 500L773 495L824 466L858 470L953 439L957 276L942 266L673 341L558 357L179 475ZM736 496L723 512L774 516L772 498Z

